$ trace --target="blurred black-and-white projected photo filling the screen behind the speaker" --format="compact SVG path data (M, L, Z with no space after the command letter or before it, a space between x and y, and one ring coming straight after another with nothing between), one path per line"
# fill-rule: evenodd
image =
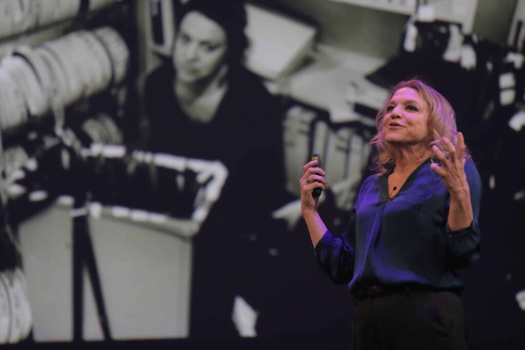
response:
M0 0L0 344L349 348L299 178L346 228L418 77L483 182L471 349L525 344L525 1Z

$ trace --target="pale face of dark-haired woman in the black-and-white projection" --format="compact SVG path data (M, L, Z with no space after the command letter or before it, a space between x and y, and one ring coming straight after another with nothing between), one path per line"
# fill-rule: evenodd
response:
M186 83L206 79L225 65L228 49L224 29L199 12L182 19L173 52L177 79Z

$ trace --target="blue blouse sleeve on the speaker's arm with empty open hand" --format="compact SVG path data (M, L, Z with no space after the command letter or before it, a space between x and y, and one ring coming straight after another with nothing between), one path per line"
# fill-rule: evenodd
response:
M471 161L465 163L465 173L470 188L470 200L474 219L469 227L456 231L445 229L450 262L454 267L466 268L478 260L481 252L478 217L481 204L481 179L476 166Z

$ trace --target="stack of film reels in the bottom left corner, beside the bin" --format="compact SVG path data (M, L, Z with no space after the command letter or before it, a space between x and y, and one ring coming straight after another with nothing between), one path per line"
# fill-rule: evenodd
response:
M12 232L3 226L0 248L0 344L15 344L27 339L33 327L27 281L20 267L18 248Z

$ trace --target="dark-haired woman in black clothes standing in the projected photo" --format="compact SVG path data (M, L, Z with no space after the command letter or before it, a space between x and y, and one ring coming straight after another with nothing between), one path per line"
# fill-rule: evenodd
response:
M243 66L243 2L193 0L180 10L172 60L145 82L149 148L219 161L228 170L193 238L190 336L255 336L263 284L270 285L262 269L276 242L269 238L276 224L271 209L284 193L281 113ZM277 168L272 181L264 170L270 167ZM253 183L265 185L255 193Z

